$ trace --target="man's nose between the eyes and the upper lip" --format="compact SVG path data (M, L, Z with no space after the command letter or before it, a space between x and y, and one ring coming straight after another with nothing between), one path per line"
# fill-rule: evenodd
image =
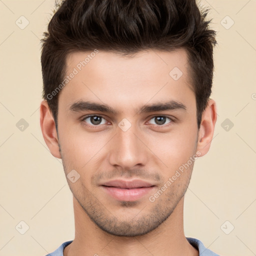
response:
M146 139L138 132L135 125L131 125L124 131L116 127L116 135L112 138L109 149L109 163L122 169L131 169L136 165L144 166L149 150L146 147Z

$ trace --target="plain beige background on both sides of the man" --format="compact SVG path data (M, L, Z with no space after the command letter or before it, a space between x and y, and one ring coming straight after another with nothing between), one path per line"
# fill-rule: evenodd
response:
M0 0L1 256L43 256L74 237L72 195L61 160L49 152L39 125L39 38L53 4L54 0ZM211 6L211 27L218 31L211 96L218 118L210 150L195 162L185 195L185 235L200 239L220 255L252 256L256 254L256 1L202 0L201 4ZM21 15L29 21L24 29L15 23L25 24L25 19L20 24ZM234 21L229 29L232 20L227 15ZM28 123L23 131L17 127L21 118ZM233 123L228 131L226 118ZM29 226L24 234L21 220Z

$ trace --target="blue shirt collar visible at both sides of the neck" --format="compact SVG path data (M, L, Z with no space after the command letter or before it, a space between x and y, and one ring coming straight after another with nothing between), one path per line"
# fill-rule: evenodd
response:
M213 251L204 247L202 242L196 238L186 237L188 242L194 246L199 251L199 256L219 256L218 254L214 253ZM73 240L63 242L56 250L47 254L46 256L63 256L64 248L71 243Z

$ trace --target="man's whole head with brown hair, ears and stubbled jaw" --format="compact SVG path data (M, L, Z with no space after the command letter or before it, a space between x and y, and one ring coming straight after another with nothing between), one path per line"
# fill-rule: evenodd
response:
M62 158L73 196L106 232L132 236L159 226L209 149L216 41L206 14L193 0L65 0L48 24L43 137ZM102 186L113 179L153 186L119 200Z

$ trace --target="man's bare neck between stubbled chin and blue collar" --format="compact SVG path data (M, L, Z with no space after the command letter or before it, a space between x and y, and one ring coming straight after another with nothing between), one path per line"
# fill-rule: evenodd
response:
M116 236L100 229L73 197L75 238L65 247L64 256L198 256L183 230L183 202L180 199L171 215L152 231L138 236Z

